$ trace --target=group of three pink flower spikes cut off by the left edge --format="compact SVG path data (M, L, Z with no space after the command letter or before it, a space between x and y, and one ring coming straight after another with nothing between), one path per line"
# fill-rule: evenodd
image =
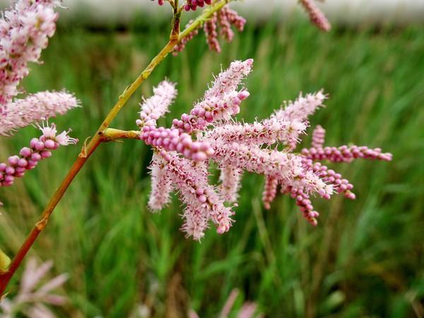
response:
M39 61L42 49L56 30L58 16L53 8L58 4L56 0L19 0L0 18L0 136L10 136L16 129L79 105L66 92L40 92L13 100L20 93L20 81L29 73L28 63ZM54 124L38 126L42 131L40 138L32 139L29 148L10 156L7 163L0 163L0 187L11 186L60 145L77 142L66 131L57 134Z

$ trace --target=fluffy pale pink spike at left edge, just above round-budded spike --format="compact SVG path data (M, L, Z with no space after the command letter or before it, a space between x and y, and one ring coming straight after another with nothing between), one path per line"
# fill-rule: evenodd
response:
M74 95L66 92L40 92L8 103L7 113L0 116L0 135L8 136L16 129L34 122L65 114L79 106Z

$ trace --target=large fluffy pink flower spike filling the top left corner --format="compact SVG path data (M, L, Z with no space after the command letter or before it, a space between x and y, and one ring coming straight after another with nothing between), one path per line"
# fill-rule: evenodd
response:
M57 13L52 7L57 1L20 0L4 11L0 19L0 105L18 95L18 84L28 75L28 63L40 59L48 38L56 30Z

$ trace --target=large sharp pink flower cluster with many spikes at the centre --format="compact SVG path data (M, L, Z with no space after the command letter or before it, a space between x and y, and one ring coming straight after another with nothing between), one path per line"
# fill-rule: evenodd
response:
M351 192L353 185L318 160L336 163L348 163L356 158L391 160L391 154L382 153L379 148L324 147L325 131L321 126L312 134L312 147L294 153L300 136L307 129L308 116L326 100L322 91L300 95L261 122L235 122L233 117L240 112L241 102L249 97L241 85L252 71L252 64L252 59L232 62L227 70L216 76L204 98L194 104L189 114L172 121L171 129L158 128L155 122L137 122L141 128L140 138L154 149L148 205L158 211L170 202L170 192L179 192L184 204L182 230L194 240L204 236L210 221L218 233L229 230L244 171L264 175L265 208L271 208L280 187L281 193L295 199L305 218L317 225L319 213L312 206L312 196L330 199L336 192L355 198ZM155 95L141 105L142 114L150 101L161 100L165 89L158 88L154 90ZM162 98L165 102L157 105L158 113L167 112L174 93L172 98ZM282 151L280 145L285 146ZM196 151L204 154L198 155ZM218 186L208 183L211 163L216 163L220 169Z

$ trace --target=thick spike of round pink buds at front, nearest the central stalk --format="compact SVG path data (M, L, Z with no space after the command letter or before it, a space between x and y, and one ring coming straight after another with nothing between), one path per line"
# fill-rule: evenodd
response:
M193 141L189 134L180 134L178 129L144 126L140 139L148 145L163 148L165 151L182 153L185 158L196 162L204 161L213 155L208 142Z

